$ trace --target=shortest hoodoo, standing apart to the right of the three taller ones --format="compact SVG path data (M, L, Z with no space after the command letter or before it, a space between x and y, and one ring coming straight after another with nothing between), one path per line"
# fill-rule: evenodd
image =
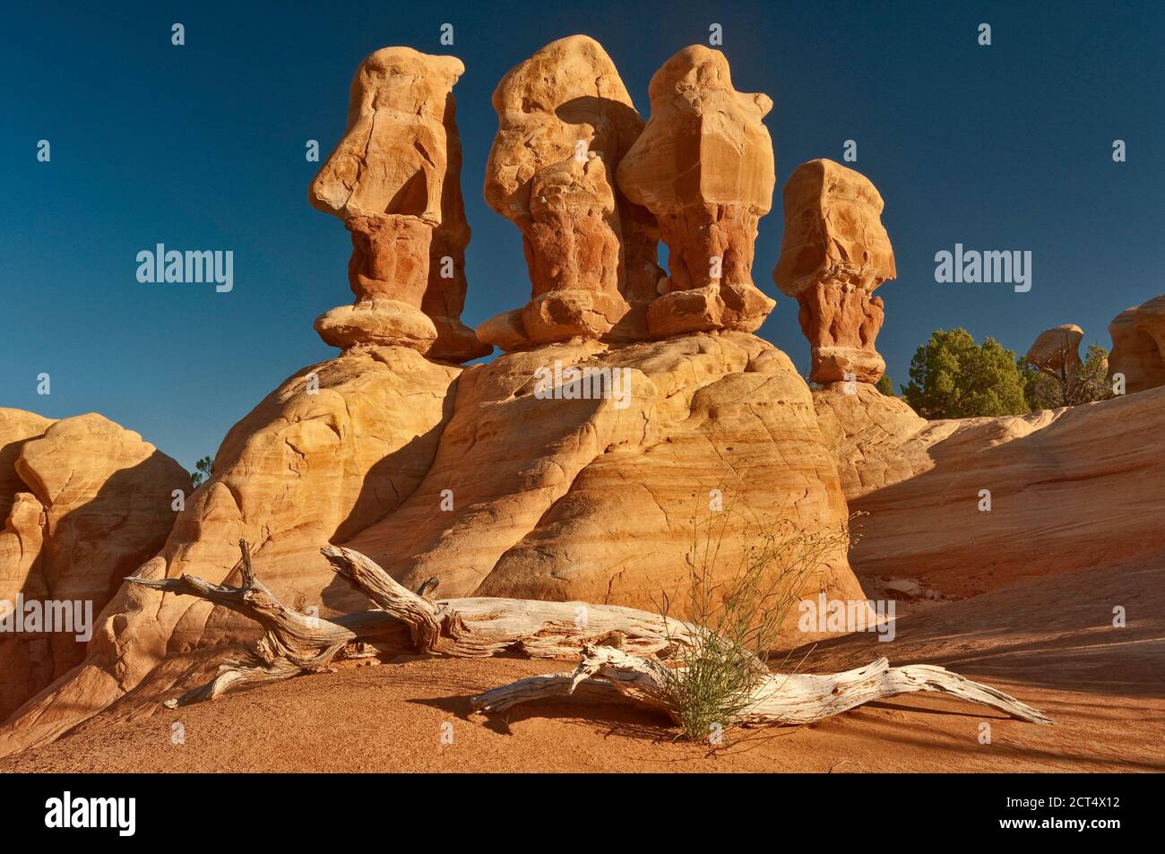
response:
M875 350L884 311L873 294L897 275L881 195L853 169L814 160L793 170L784 203L785 232L772 278L800 306L802 332L811 345L810 379L877 382L885 373Z

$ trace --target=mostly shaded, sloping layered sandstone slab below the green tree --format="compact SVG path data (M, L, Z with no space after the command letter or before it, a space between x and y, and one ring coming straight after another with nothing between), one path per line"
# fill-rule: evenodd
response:
M857 388L827 388L814 403L849 508L869 514L850 553L861 578L923 578L942 593L973 595L1165 556L1165 388L933 422Z

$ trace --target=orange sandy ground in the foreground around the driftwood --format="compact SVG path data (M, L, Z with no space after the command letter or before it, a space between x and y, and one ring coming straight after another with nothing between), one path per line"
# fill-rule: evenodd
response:
M1123 606L1128 626L1111 624ZM803 650L804 651L804 650ZM98 717L2 771L1163 771L1165 570L1044 578L902 617L891 643L818 644L805 670L878 655L984 680L1038 726L933 694L806 727L737 731L715 751L654 713L539 703L493 719L467 699L569 662L419 659L350 666L134 721ZM181 722L184 743L172 743ZM980 743L983 722L990 743ZM452 733L452 743L443 735Z

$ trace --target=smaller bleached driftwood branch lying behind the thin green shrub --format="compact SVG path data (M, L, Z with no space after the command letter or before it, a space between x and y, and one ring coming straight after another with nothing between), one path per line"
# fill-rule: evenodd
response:
M665 663L657 659L609 647L588 645L582 652L581 664L573 672L518 679L472 698L469 705L475 712L490 713L529 700L581 693L582 700L619 700L648 706L679 722L668 699L668 680L677 676L682 678L682 672L683 669L669 670ZM951 694L1032 724L1052 722L1016 698L942 668L929 664L891 668L885 658L828 676L768 673L733 722L742 726L811 724L864 703L915 691Z

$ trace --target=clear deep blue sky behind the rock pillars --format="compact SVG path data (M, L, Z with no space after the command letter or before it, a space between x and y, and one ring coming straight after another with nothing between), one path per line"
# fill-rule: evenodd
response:
M285 7L285 8L284 8ZM465 147L471 325L529 298L517 230L481 198L502 75L585 33L636 106L675 51L723 24L736 87L775 101L775 209L754 277L776 296L761 334L807 370L795 301L770 274L781 188L814 157L859 161L887 206L898 280L878 294L878 350L896 384L938 327L1023 352L1037 332L1106 326L1165 292L1165 3L320 2L6 3L0 19L3 216L0 405L99 411L191 467L299 367L336 351L311 330L351 299L343 225L306 202L339 139L352 72L405 44L451 52ZM186 28L185 47L170 26ZM443 22L456 44L438 42ZM979 23L993 27L989 48ZM36 143L52 146L49 163ZM1114 163L1111 143L1128 143ZM140 284L163 242L233 249L234 291ZM1030 249L1033 287L937 284L934 253ZM52 377L50 396L36 375Z

